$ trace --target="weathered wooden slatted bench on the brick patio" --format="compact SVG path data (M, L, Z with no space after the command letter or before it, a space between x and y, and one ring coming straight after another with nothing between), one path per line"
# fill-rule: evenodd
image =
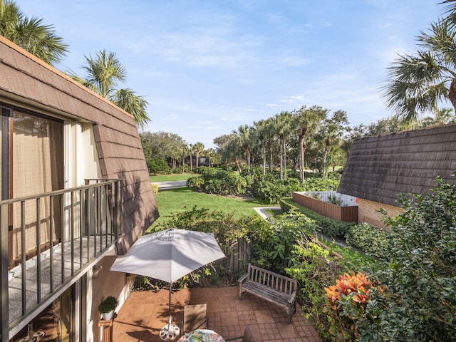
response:
M239 299L242 299L242 292L248 292L281 306L288 314L288 323L291 323L291 316L296 311L296 280L249 264L247 274L238 282Z

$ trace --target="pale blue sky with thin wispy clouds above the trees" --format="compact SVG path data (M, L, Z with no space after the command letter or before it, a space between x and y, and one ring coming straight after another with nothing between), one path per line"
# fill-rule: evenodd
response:
M188 144L306 105L345 110L351 127L393 115L387 68L418 50L442 0L16 0L69 53L56 67L84 76L85 56L115 53L145 97L145 131Z

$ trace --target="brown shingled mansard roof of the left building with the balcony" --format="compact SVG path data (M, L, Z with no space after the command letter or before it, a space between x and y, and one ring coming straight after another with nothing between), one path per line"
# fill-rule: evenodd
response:
M144 152L132 115L0 36L1 101L93 123L105 179L124 178L123 232L128 248L157 219Z

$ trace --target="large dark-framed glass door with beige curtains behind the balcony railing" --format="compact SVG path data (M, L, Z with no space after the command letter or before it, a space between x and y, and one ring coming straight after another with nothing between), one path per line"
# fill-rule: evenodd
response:
M1 107L1 197L2 199L39 195L63 189L63 120L28 113L16 108ZM51 203L52 201L52 203ZM51 237L51 220L61 222L60 197L16 203L10 209L10 266L19 262L21 226L25 226L25 252L35 251L40 245L51 244L60 238ZM50 207L55 210L50 214ZM25 212L24 222L21 212ZM39 222L37 222L39 220ZM39 234L36 233L39 227ZM55 232L59 230L56 229Z

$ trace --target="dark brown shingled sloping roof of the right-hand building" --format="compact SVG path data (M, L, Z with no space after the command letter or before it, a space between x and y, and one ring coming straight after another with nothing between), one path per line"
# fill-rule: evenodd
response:
M398 206L398 194L426 194L435 177L454 182L456 125L355 140L338 192Z

